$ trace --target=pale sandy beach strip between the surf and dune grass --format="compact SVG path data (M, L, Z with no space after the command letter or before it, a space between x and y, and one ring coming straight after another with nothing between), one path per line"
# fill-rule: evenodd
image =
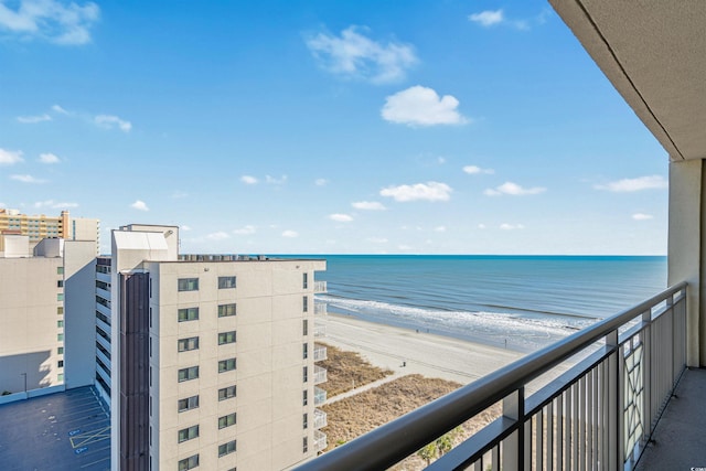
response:
M359 352L372 364L395 372L394 377L418 373L427 377L471 383L523 353L426 332L361 321L329 312L317 318L325 325L320 342Z

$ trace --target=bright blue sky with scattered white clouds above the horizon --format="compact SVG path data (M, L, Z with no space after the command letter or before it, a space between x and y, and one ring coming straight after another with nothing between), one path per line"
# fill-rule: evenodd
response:
M547 2L0 0L0 207L104 253L664 255L667 170Z

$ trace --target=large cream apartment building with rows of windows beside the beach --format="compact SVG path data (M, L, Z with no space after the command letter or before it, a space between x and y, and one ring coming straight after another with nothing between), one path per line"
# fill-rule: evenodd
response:
M325 260L180 256L174 226L125 226L111 243L96 265L96 382L114 470L280 470L325 447Z

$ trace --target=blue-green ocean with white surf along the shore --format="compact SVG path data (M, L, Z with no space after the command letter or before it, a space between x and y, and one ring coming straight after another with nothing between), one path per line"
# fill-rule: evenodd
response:
M666 288L666 257L328 255L329 312L538 350Z

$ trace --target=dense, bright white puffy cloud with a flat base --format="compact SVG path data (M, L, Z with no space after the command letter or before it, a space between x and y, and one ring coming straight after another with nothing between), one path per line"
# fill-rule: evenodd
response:
M459 100L416 85L385 98L383 119L407 126L462 125L468 122L457 110Z

